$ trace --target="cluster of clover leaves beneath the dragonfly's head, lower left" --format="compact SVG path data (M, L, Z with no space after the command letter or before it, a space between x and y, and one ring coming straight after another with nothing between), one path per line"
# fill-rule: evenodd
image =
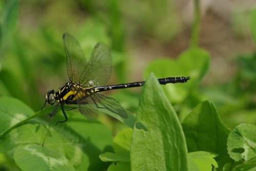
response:
M33 114L27 105L9 97L1 97L0 104L5 105L1 107L1 118L5 121L0 128L1 136L6 128ZM22 170L104 169L107 164L101 162L98 155L112 152L110 130L97 121L87 121L78 113L70 118L73 121L60 127L34 118L12 128L1 137L0 151L14 150L15 163Z

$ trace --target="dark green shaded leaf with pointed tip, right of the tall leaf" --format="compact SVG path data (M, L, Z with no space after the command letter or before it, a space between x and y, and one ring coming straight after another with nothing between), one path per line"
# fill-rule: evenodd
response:
M233 162L227 154L230 130L222 123L215 106L204 101L191 111L182 123L188 152L206 151L218 154L219 168Z

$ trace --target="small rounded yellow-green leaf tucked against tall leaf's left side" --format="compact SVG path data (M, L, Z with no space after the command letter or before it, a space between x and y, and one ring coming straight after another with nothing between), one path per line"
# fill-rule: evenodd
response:
M126 128L120 131L113 141L113 149L116 154L130 157L133 130Z

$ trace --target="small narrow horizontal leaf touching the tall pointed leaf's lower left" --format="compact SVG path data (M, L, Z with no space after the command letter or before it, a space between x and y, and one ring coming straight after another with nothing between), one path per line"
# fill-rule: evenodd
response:
M129 162L130 163L129 157L125 157L123 155L119 155L116 153L110 153L110 152L106 152L106 153L99 155L99 158L104 162L115 161L115 162Z

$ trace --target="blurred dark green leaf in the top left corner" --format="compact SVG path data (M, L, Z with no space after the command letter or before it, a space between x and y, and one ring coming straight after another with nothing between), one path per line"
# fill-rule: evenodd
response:
M9 0L1 13L1 41L7 39L11 36L12 32L14 31L17 18L18 18L18 1L17 0Z

